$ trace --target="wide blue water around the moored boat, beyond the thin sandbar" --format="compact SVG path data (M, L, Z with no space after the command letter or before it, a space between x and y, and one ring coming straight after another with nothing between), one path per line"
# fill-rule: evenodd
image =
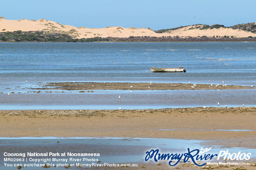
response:
M251 85L256 43L0 43L0 86L25 82L189 82ZM150 50L151 49L151 50ZM154 50L153 50L154 49ZM223 64L222 64L223 62ZM179 67L186 73L151 73Z

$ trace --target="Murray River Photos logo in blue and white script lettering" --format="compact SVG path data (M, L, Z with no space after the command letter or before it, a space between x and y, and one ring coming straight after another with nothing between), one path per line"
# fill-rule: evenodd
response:
M198 164L196 161L209 161L213 158L216 158L216 160L220 160L222 157L223 160L249 160L251 153L241 153L241 151L237 153L230 153L229 150L226 151L220 151L218 154L210 154L205 153L211 150L211 147L208 148L201 148L190 150L188 148L188 152L186 153L160 153L159 149L152 149L151 151L146 151L146 157L145 161L148 161L149 159L153 159L155 162L161 161L161 160L169 160L168 164L170 166L175 166L178 164L182 158L183 162L190 162L192 161L197 166L204 166L204 164Z

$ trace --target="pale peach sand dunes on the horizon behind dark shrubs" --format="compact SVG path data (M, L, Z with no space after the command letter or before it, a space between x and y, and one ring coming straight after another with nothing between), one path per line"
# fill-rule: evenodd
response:
M168 31L166 33L155 33L150 28L123 28L121 26L113 26L106 28L86 28L86 27L75 27L71 25L62 25L54 21L39 19L39 20L7 20L4 17L0 17L0 32L6 31L52 31L63 33L72 36L73 38L94 38L94 37L118 37L118 38L128 38L130 36L179 36L179 37L213 37L213 36L234 36L237 38L241 37L256 37L255 33L243 31L239 29L231 28L214 28L214 29L204 29L200 30L198 25L186 26L173 31Z

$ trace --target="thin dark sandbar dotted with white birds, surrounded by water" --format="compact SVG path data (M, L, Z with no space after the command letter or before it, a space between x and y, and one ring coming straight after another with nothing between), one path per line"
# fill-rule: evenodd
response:
M61 90L188 90L188 89L249 89L250 86L224 84L191 83L151 83L150 82L49 82L41 89ZM191 87L192 86L192 87ZM149 88L148 88L149 87ZM253 87L254 88L254 87Z

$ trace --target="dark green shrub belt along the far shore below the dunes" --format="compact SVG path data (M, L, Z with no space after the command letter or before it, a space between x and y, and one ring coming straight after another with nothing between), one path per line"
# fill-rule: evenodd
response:
M46 31L13 31L13 32L0 32L0 42L241 42L250 41L256 42L256 37L247 38L235 38L233 36L198 36L198 37L186 37L181 38L179 36L162 36L162 37L150 37L150 36L130 36L128 38L72 38L69 35L61 33L53 33Z

